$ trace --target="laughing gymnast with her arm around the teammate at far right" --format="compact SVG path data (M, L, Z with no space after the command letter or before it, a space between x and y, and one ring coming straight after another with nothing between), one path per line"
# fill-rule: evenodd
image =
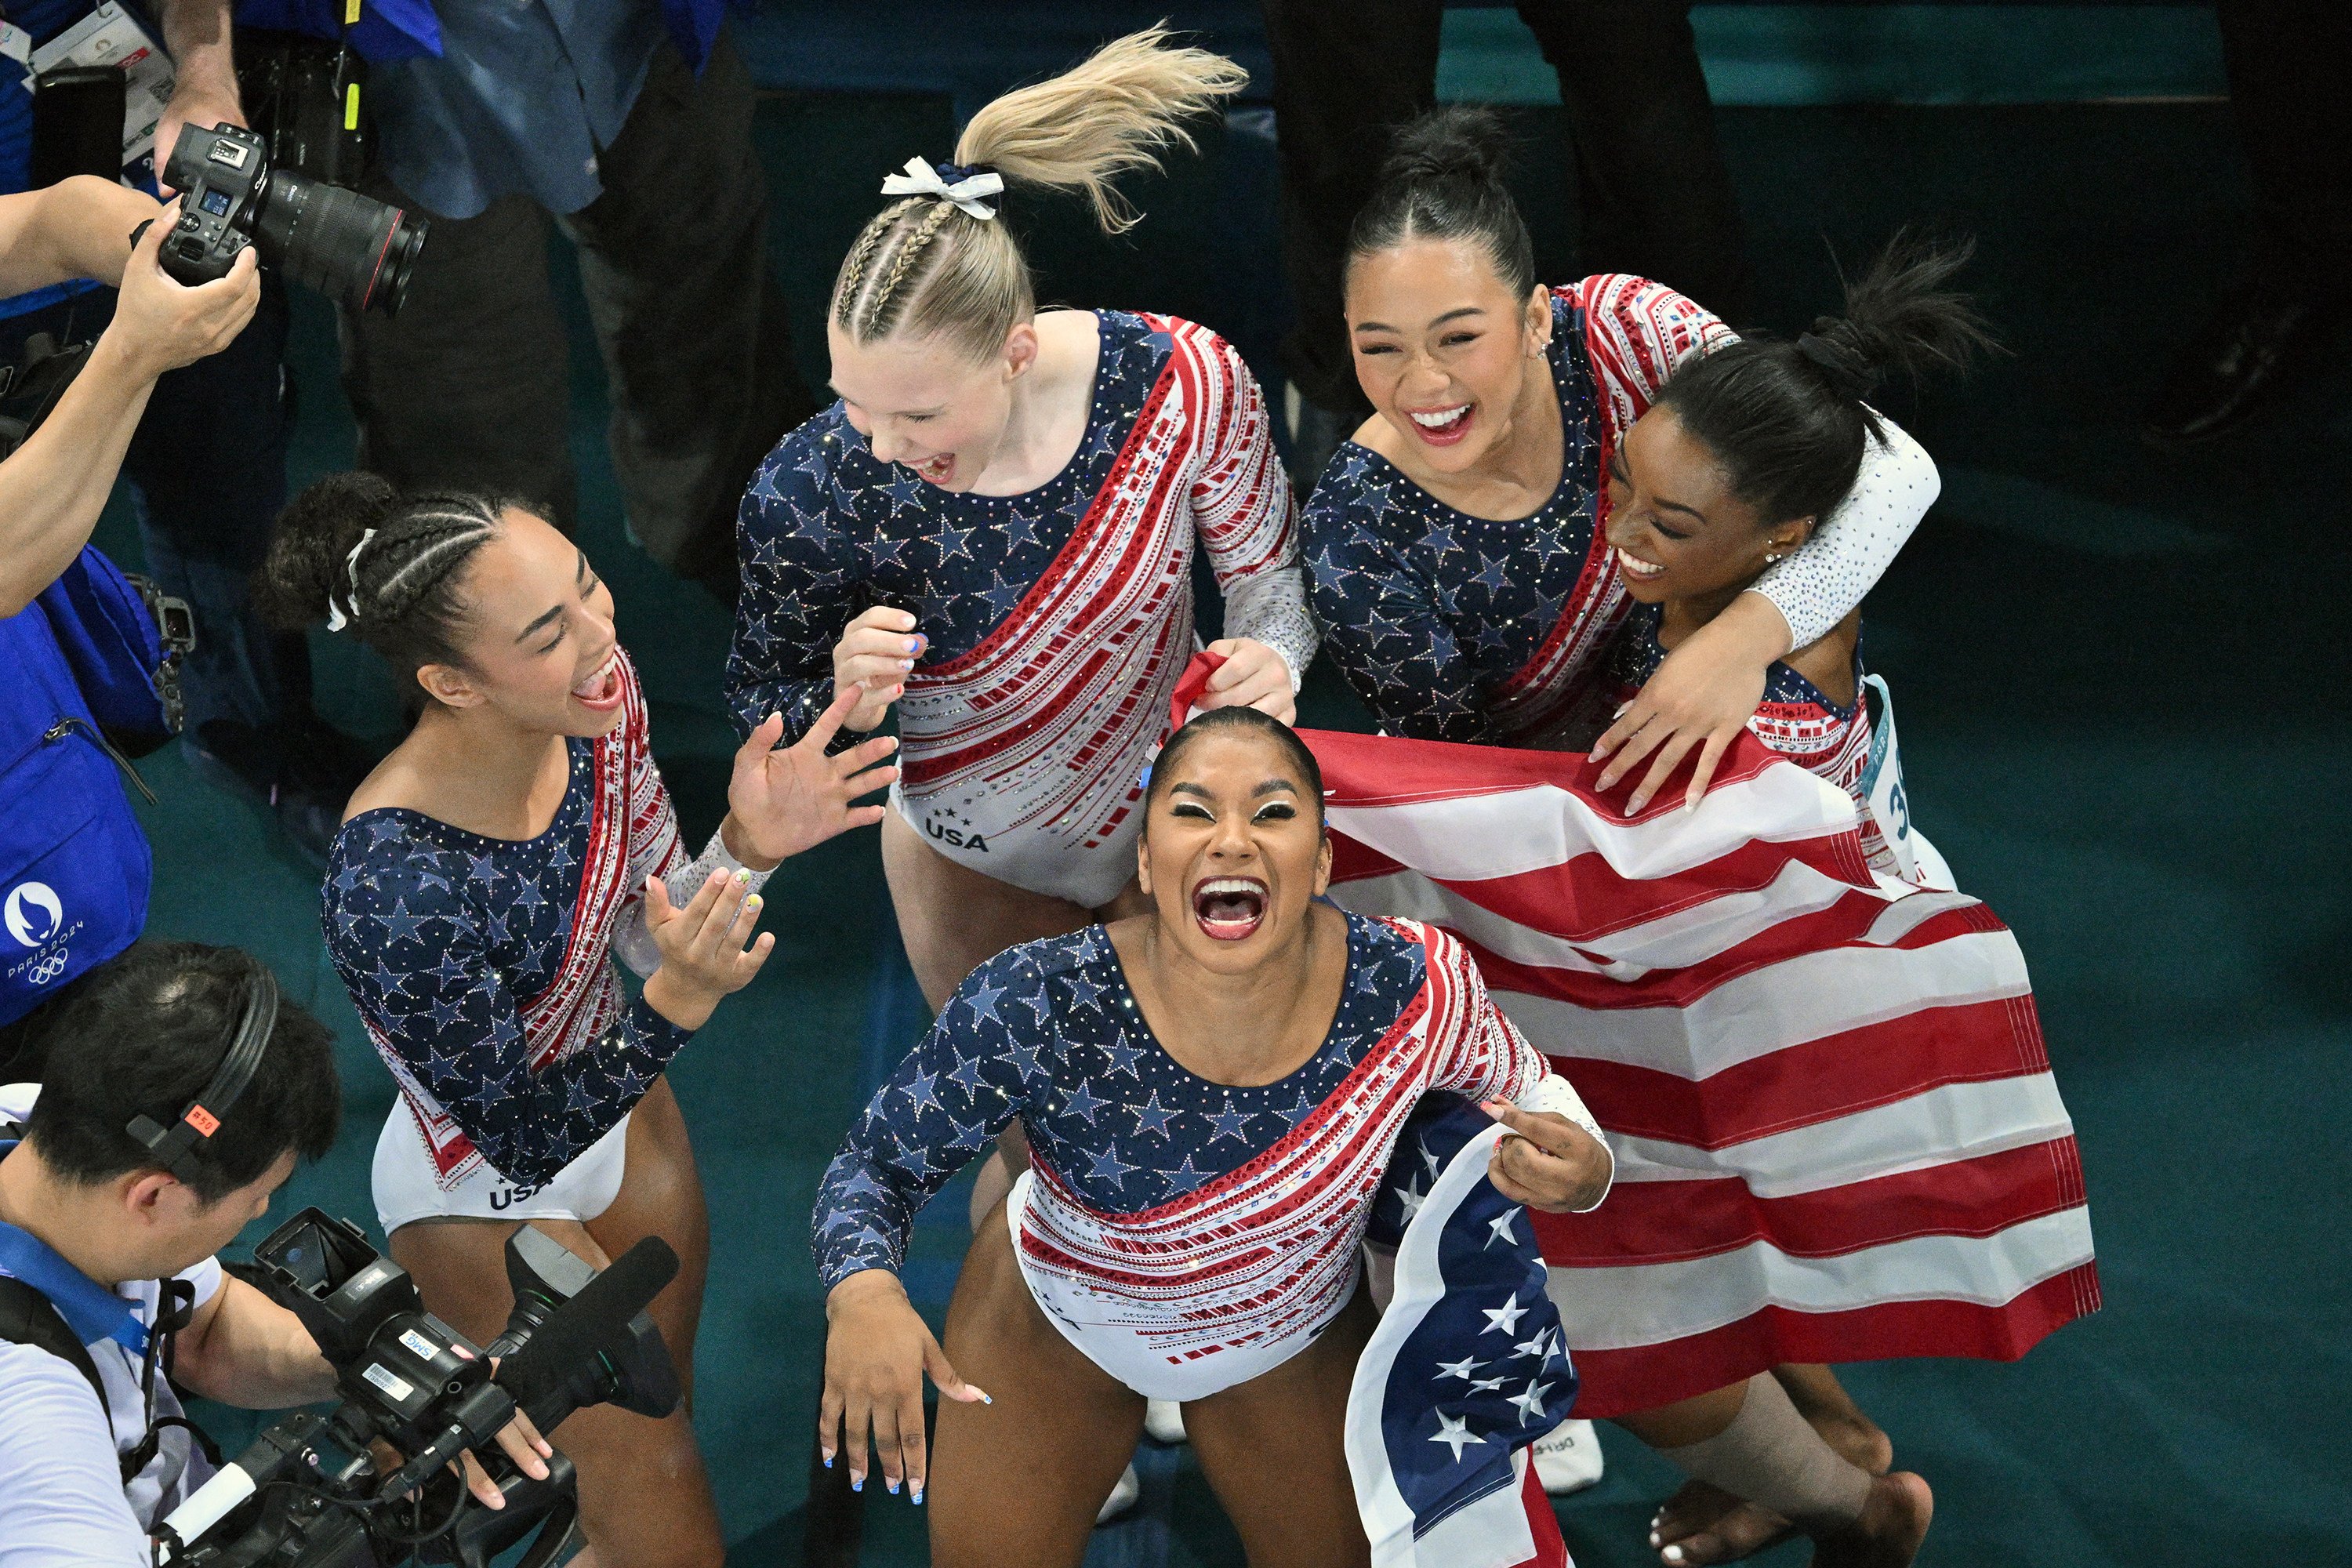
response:
M1348 336L1374 416L1301 529L1327 649L1390 733L1559 745L1625 616L1604 473L1668 374L1733 341L1672 289L1536 282L1489 110L1402 127L1348 261ZM1811 536L1651 675L1595 757L1649 759L1637 811L1693 750L1698 799L1766 668L1860 604L1936 498L1936 465L1879 418Z

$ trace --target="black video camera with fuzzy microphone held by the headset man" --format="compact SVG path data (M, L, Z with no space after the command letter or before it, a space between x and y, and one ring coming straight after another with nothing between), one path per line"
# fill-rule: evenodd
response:
M515 1469L496 1434L517 1410L541 1432L579 1408L640 1415L677 1408L677 1368L647 1302L677 1274L677 1253L644 1239L602 1274L524 1225L506 1244L515 1312L489 1345L470 1345L416 1300L348 1220L306 1208L235 1269L289 1307L336 1368L334 1410L275 1422L195 1490L160 1528L160 1563L181 1568L395 1568L492 1559L539 1537L520 1568L546 1568L579 1523L572 1462L548 1479ZM499 1356L492 1375L489 1359ZM381 1446L405 1455L393 1472ZM482 1507L449 1462L473 1450L506 1497Z

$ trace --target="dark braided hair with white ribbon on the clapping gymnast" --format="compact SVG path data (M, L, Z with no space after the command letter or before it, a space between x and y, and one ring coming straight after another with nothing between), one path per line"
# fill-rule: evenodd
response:
M402 677L463 668L466 564L510 505L543 515L506 496L402 496L372 473L329 475L278 515L254 602L282 630L341 618Z

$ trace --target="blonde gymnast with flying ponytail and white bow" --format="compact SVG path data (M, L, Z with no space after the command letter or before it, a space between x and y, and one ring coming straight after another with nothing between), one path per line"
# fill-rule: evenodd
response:
M743 498L727 698L800 736L894 708L882 823L898 929L936 1009L974 964L1131 893L1136 778L1195 651L1192 550L1225 599L1207 708L1289 719L1315 656L1294 501L1265 400L1218 336L1167 315L1037 310L997 205L1112 188L1244 82L1152 28L910 160L833 287L840 402Z

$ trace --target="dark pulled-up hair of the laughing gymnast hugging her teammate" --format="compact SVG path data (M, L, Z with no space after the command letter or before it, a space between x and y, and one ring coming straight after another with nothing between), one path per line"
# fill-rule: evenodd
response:
M1348 266L1406 240L1486 252L1512 299L1536 292L1536 247L1503 174L1510 132L1491 108L1432 108L1397 127L1371 200L1348 230Z

